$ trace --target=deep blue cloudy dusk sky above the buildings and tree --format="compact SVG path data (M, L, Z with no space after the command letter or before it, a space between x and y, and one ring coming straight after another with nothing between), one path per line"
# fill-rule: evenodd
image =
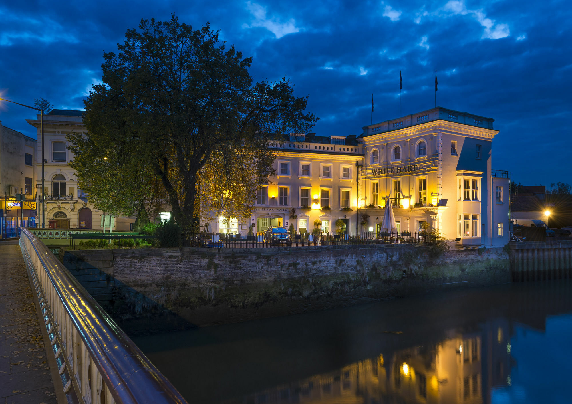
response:
M2 2L0 93L82 109L141 18L198 28L253 56L255 80L288 77L321 118L319 135L359 134L370 123L437 104L495 118L492 168L525 184L572 183L572 2L543 1L98 1ZM33 135L33 111L0 108L3 125Z

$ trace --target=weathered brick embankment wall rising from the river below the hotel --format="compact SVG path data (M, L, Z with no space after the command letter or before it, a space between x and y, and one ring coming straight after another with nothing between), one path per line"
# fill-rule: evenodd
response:
M445 252L364 246L60 250L128 332L322 310L455 286L509 282L502 248Z

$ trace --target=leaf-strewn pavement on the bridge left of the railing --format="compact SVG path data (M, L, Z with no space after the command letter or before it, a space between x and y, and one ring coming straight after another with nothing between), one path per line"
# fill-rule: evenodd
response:
M0 404L56 404L18 240L0 241Z

